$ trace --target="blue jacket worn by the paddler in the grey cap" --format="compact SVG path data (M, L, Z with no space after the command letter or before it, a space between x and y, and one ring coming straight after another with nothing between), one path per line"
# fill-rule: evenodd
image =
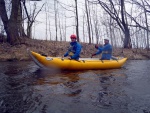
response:
M99 47L96 55L102 53L101 60L110 60L112 57L112 46L110 44L105 44L103 47Z

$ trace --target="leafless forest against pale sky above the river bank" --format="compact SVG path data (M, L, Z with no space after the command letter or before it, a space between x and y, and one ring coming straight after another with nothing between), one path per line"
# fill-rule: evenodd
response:
M68 41L75 33L82 43L109 38L113 47L149 50L149 17L149 0L0 0L0 42L38 39L43 24L41 40Z

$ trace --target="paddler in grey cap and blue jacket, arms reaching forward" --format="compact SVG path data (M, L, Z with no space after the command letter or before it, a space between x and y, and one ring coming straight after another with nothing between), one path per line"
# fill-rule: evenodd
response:
M110 60L112 57L112 46L109 44L108 39L104 39L104 46L99 47L95 45L95 48L98 50L96 53L92 54L91 58L95 55L102 53L101 60Z

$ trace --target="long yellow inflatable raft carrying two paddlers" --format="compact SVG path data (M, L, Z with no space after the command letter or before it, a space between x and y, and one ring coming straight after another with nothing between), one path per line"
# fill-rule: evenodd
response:
M68 58L43 56L33 51L29 51L33 61L40 67L59 68L64 70L92 70L92 69L115 69L121 68L127 58L117 60L99 60L98 58L80 58L69 60Z

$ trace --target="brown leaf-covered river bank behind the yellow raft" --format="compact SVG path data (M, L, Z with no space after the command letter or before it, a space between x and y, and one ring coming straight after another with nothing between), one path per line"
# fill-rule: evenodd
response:
M94 44L81 43L82 52L80 57L90 58L96 52ZM37 39L25 39L22 43L14 46L8 43L0 43L0 61L30 61L27 49L51 57L61 57L67 51L69 42L46 41ZM113 56L127 57L128 60L149 60L150 51L146 49L123 49L113 47ZM95 57L100 57L97 55Z

